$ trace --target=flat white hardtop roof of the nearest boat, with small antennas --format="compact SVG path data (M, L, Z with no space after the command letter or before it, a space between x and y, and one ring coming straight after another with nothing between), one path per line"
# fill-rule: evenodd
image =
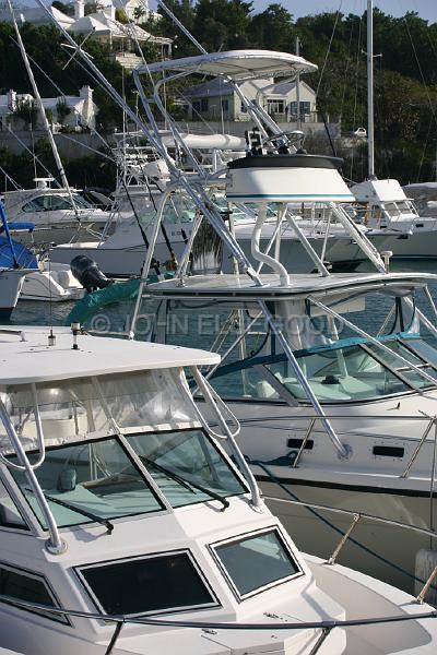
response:
M0 385L220 361L220 355L205 350L88 334L78 336L75 350L70 329L56 327L54 334L56 345L49 346L48 327L0 327Z

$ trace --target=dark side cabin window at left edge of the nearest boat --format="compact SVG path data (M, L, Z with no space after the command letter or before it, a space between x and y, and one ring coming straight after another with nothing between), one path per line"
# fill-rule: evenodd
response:
M14 567L1 562L0 594L16 598L16 600L46 605L47 607L59 607L59 603L56 600L55 595L42 575L31 573L29 571L23 571L23 569L17 570ZM11 605L13 605L13 602L11 602ZM63 615L46 614L44 610L27 609L24 607L21 609L32 611L33 614L42 614L54 621L68 623L68 619Z

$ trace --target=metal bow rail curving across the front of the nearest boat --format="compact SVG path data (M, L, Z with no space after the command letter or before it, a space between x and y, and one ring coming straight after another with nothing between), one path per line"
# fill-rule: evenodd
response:
M79 619L90 619L94 621L105 621L106 623L116 623L116 629L105 651L105 655L110 655L117 644L118 638L120 636L121 629L125 626L151 626L155 628L188 628L193 630L202 630L204 632L216 634L218 630L256 630L256 631L269 631L269 630L321 630L321 635L317 640L316 644L308 655L317 653L328 636L331 630L335 628L355 628L359 626L380 626L385 623L402 623L405 621L422 621L425 619L437 619L437 610L417 612L417 614L403 614L403 615L391 615L383 617L369 617L362 619L329 619L324 621L298 621L295 623L229 623L229 622L214 622L214 621L185 621L175 619L161 619L153 617L131 617L122 615L103 615L91 611L81 611L75 609L67 609L64 607L50 607L40 603L32 603L29 600L20 600L12 596L0 594L0 603L4 603L12 607L19 607L21 609L27 609L35 612L45 612L54 616L61 617L73 617Z

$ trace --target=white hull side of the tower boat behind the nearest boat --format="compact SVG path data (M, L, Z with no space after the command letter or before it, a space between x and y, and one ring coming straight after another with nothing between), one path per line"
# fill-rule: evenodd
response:
M409 474L402 477L427 426L427 420L403 419L403 416L418 418L421 410L429 416L435 402L435 393L425 396L413 393L400 397L399 404L398 400L382 400L367 405L351 404L347 409L326 406L335 431L352 454L341 461L328 434L315 427L311 448L304 450L295 468L292 460L286 461L291 451L297 452L290 440L302 442L312 410L256 402L228 404L241 425L238 445L252 463L265 496L363 512L429 529L437 525L436 490L433 502L429 497L434 428ZM335 414L349 418L335 419ZM304 416L305 419L299 418ZM375 418L378 416L381 418ZM403 455L392 456L387 451L388 455L376 456L375 446L401 449ZM327 511L315 513L288 502L272 502L270 508L299 548L326 558L353 519ZM342 563L413 593L416 552L430 547L429 537L364 520L352 536L363 548L352 541L346 544L340 558ZM437 540L432 547L437 550Z

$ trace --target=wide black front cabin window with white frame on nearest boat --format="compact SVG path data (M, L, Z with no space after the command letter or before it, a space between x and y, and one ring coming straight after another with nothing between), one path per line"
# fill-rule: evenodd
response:
M218 604L188 551L81 567L78 574L108 615L181 611Z

